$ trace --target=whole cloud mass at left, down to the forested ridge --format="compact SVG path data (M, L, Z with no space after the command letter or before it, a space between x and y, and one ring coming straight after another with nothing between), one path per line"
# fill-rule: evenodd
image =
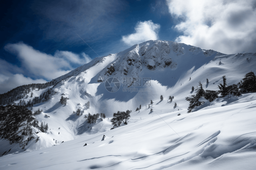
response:
M4 50L16 55L21 67L0 59L0 93L24 84L47 82L91 61L85 53L57 50L54 55L50 55L22 42L7 44Z

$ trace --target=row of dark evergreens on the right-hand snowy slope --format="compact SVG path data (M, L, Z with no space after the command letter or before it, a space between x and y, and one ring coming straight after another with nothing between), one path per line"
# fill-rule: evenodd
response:
M242 79L243 81L240 81L238 84L227 85L227 78L225 75L222 77L222 79L223 84L220 83L218 85L218 88L220 89L218 91L204 90L202 83L199 82L199 87L196 88L196 94L185 98L190 103L188 107L188 113L192 112L194 108L199 107L205 103L204 101L199 101L200 98L205 98L206 100L212 102L218 98L218 94L221 94L222 97L227 95L238 97L241 95L241 93L256 92L256 76L252 71L247 73ZM194 90L193 87L192 90Z

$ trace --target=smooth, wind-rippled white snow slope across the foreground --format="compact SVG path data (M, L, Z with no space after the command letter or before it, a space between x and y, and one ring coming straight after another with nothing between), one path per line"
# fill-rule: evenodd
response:
M228 100L222 99L217 103L219 107L188 114L182 110L162 114L160 118L152 113L151 118L111 131L41 150L6 155L0 158L0 167L255 169L255 99L255 94L249 93L238 101L227 104ZM181 116L174 116L178 113ZM101 141L103 134L107 138Z

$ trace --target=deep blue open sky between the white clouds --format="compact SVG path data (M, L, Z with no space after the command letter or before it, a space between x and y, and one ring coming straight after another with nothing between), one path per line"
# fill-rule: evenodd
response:
M17 57L4 50L8 43L23 42L52 55L63 50L95 58L77 34L100 56L130 47L121 39L135 32L138 21L159 24L162 40L179 34L172 29L175 20L166 1L3 1L0 8L0 58L17 66Z

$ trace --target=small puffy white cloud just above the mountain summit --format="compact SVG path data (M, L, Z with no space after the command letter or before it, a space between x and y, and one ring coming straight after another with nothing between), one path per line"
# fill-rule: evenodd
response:
M148 40L158 39L159 24L153 23L151 20L139 21L135 26L135 33L122 36L122 41L127 45L135 45Z

